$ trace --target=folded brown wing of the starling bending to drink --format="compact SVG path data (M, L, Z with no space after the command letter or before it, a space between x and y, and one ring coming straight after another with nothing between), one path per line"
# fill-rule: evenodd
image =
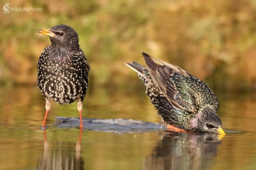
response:
M143 56L154 82L166 99L176 108L188 113L196 112L198 103L194 91L189 88L189 83L183 82L189 74L178 66L157 60L162 64L159 65L145 53Z

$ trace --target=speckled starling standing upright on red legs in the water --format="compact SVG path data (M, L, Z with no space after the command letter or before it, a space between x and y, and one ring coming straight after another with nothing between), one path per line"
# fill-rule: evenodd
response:
M40 29L38 33L48 35L52 44L42 51L37 62L37 87L46 99L46 118L51 101L71 104L78 100L77 109L82 128L82 102L88 89L89 63L78 44L78 34L67 25L51 29Z

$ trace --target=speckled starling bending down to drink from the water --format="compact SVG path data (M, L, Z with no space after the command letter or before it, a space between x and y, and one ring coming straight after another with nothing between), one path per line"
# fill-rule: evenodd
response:
M201 80L182 68L142 53L147 68L136 62L125 63L138 73L146 94L161 115L167 128L215 132L225 135L216 114L219 102L214 92ZM157 61L159 64L157 64Z

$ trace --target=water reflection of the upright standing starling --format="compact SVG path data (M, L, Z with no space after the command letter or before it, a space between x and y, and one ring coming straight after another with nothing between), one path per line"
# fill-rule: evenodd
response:
M49 142L44 130L44 153L35 169L84 169L81 157L81 137L77 142Z

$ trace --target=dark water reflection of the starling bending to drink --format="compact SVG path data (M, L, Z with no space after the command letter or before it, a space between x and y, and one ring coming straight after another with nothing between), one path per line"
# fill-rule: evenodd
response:
M165 131L143 169L208 169L215 162L223 136Z

